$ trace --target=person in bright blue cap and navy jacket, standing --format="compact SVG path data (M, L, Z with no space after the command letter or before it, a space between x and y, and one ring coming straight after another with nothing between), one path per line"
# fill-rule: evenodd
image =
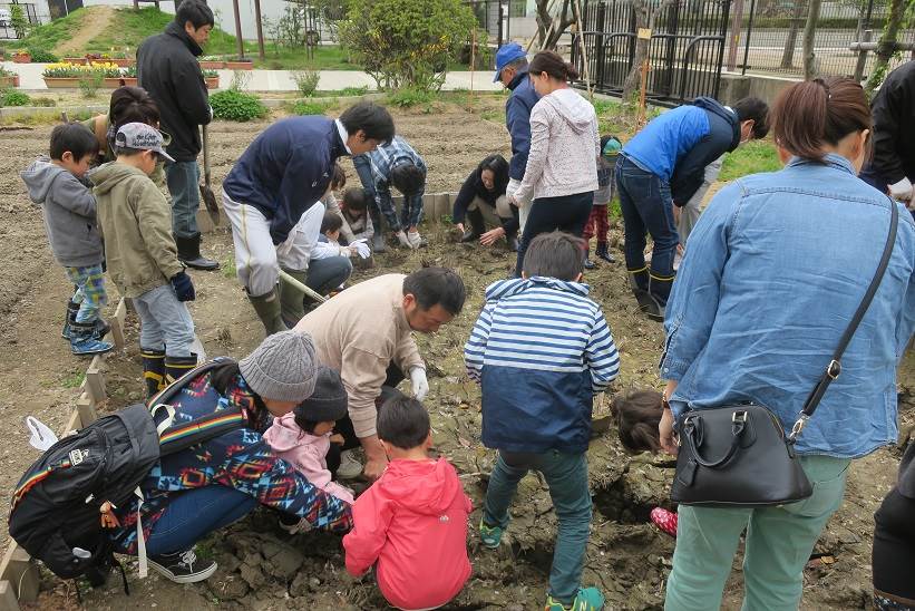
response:
M493 83L498 81L512 90L505 103L505 125L512 135L512 161L508 163L508 187L505 194L510 198L524 178L527 154L530 152L530 109L541 99L527 78L527 54L517 42L503 45L496 52L496 78ZM524 207L519 211L522 231L527 211L530 210L530 202L523 203ZM493 231L500 231L500 227Z

